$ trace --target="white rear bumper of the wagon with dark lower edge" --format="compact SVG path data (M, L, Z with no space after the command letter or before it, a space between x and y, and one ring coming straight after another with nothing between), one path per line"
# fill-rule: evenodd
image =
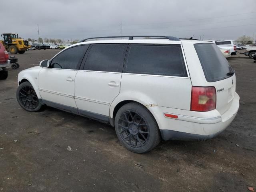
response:
M229 110L224 114L217 110L193 112L158 106L148 109L158 122L163 140L206 140L220 134L234 120L239 108L239 99L236 93ZM166 118L163 113L174 114L178 118Z

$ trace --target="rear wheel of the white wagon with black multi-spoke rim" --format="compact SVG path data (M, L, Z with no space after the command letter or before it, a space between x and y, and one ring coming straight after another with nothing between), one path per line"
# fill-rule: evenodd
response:
M138 103L122 106L115 117L118 139L128 150L146 153L160 142L157 122L150 111Z

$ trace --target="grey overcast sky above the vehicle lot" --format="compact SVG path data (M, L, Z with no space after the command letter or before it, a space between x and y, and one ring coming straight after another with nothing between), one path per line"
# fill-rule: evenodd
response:
M13 10L13 12L11 12ZM0 33L22 38L168 35L256 37L255 0L1 0Z

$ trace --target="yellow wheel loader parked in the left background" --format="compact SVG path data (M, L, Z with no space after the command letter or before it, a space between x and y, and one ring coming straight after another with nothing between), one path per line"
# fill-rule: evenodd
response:
M31 47L27 40L18 38L18 34L3 33L1 36L4 40L0 40L0 42L4 45L5 49L10 52L10 54L23 54Z

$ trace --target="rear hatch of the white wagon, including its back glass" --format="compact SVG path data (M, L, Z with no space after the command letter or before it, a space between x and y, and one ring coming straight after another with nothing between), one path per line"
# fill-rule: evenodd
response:
M215 44L194 44L208 85L216 88L216 110L226 112L236 92L236 76Z

